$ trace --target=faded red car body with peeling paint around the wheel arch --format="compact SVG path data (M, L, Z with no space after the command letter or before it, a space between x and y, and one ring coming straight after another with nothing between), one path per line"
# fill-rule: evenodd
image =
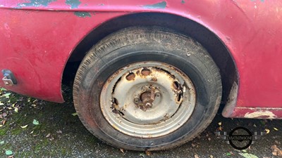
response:
M63 71L75 48L103 23L138 13L192 20L226 46L238 81L224 117L282 118L279 0L1 0L0 70L11 70L18 83L0 86L62 103Z

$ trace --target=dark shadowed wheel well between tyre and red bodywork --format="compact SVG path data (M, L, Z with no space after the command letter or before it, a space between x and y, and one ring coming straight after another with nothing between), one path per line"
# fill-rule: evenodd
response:
M73 51L63 72L63 83L73 84L75 72L78 70L82 58L85 57L85 53L87 53L94 44L97 44L99 40L119 29L133 26L166 27L200 42L219 67L223 86L221 103L226 103L233 82L238 82L237 68L235 67L235 62L228 52L228 49L221 39L206 27L187 18L166 13L136 13L124 15L109 20L95 28Z

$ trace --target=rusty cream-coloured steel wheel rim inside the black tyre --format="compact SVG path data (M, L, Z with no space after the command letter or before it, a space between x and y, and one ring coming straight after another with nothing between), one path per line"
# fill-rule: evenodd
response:
M195 109L189 77L164 62L135 62L107 79L100 95L104 118L117 131L138 138L165 136Z

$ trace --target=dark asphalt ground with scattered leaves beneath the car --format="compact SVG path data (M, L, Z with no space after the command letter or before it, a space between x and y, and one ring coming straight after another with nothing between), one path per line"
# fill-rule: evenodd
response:
M282 148L282 121L226 119L220 114L206 131L185 145L159 152L117 149L92 136L75 115L71 93L56 104L0 90L0 157L278 157L271 146ZM38 121L38 122L37 122ZM221 123L220 123L221 122ZM221 124L221 126L219 126ZM247 150L235 150L214 134L237 126L268 131ZM9 153L10 152L10 153ZM243 155L241 155L243 154Z

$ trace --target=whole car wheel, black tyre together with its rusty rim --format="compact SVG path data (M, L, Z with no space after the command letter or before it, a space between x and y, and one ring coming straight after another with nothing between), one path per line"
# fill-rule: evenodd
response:
M159 27L130 27L87 53L73 100L82 123L104 142L166 150L207 128L221 102L221 77L197 41Z

